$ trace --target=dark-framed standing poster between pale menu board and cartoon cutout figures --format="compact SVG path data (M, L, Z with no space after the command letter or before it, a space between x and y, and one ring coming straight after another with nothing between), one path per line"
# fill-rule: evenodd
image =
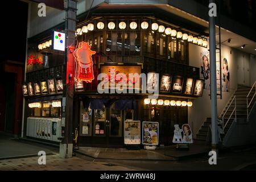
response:
M158 122L142 122L142 144L158 145L159 141L159 123Z

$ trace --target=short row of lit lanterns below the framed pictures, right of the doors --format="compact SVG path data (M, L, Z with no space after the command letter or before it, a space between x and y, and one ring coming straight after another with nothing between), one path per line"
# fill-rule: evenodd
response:
M188 107L191 107L193 105L193 103L191 101L188 101L188 102L187 101L174 101L174 100L169 101L169 100L162 100L162 99L160 99L160 100L156 100L156 99L150 100L149 98L144 99L144 104L145 105L148 105L150 103L151 103L151 105L158 104L160 106L162 106L162 105L164 105L164 106L171 105L171 106L183 106L183 107L188 106Z

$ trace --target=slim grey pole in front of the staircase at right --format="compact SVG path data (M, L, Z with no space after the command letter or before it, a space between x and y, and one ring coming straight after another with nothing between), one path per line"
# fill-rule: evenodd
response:
M215 3L215 1L209 0L209 3ZM215 7L217 9L217 6ZM216 11L216 14L217 14L217 11ZM209 33L210 33L210 96L212 98L211 100L212 151L216 151L218 156L215 16L209 16Z

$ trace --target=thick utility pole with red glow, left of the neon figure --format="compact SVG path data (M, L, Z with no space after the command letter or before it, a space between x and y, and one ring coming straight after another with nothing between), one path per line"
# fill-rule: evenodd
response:
M65 59L63 63L63 100L61 115L60 157L72 158L73 153L73 93L74 60L77 0L65 0Z

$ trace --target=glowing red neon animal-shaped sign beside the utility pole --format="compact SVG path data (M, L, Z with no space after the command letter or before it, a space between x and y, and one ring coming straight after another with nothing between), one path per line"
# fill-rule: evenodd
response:
M95 53L95 51L90 49L88 43L79 43L79 47L75 49L74 52L76 61L76 81L92 82L92 80L94 80L92 55Z

